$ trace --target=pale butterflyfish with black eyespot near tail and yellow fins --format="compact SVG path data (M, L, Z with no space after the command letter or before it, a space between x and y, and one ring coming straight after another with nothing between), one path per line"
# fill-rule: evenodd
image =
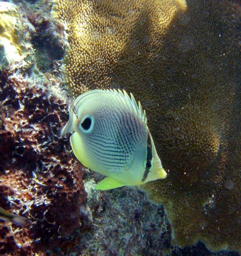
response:
M166 171L147 126L145 110L118 89L85 92L69 106L67 133L76 158L87 168L107 176L95 189L139 186L165 179Z

